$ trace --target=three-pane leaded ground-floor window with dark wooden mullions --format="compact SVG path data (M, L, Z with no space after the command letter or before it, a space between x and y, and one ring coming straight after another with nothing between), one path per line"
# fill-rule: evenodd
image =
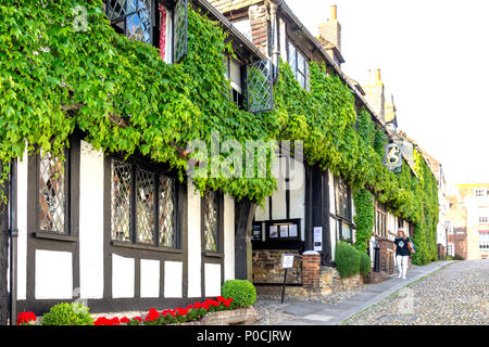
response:
M175 179L113 159L112 240L178 247Z

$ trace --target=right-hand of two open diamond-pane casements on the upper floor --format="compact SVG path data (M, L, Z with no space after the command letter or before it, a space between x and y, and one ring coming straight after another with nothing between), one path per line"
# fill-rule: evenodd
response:
M247 66L248 111L252 113L273 108L272 66L268 60L253 62Z

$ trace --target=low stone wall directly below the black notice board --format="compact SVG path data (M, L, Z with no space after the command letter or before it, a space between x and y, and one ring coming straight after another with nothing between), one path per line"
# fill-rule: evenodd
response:
M284 283L281 257L293 254L293 269L287 270L287 283L301 284L301 257L296 249L253 249L253 283Z

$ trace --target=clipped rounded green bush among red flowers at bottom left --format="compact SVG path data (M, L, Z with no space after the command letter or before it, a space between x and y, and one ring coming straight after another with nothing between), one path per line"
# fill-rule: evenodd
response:
M88 307L79 303L59 304L42 317L42 325L93 325Z

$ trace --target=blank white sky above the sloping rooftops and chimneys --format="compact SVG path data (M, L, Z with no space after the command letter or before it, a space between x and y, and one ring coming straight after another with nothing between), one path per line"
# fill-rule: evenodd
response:
M489 182L489 1L286 0L317 36L338 5L343 72L380 68L399 129L443 165L449 183Z

